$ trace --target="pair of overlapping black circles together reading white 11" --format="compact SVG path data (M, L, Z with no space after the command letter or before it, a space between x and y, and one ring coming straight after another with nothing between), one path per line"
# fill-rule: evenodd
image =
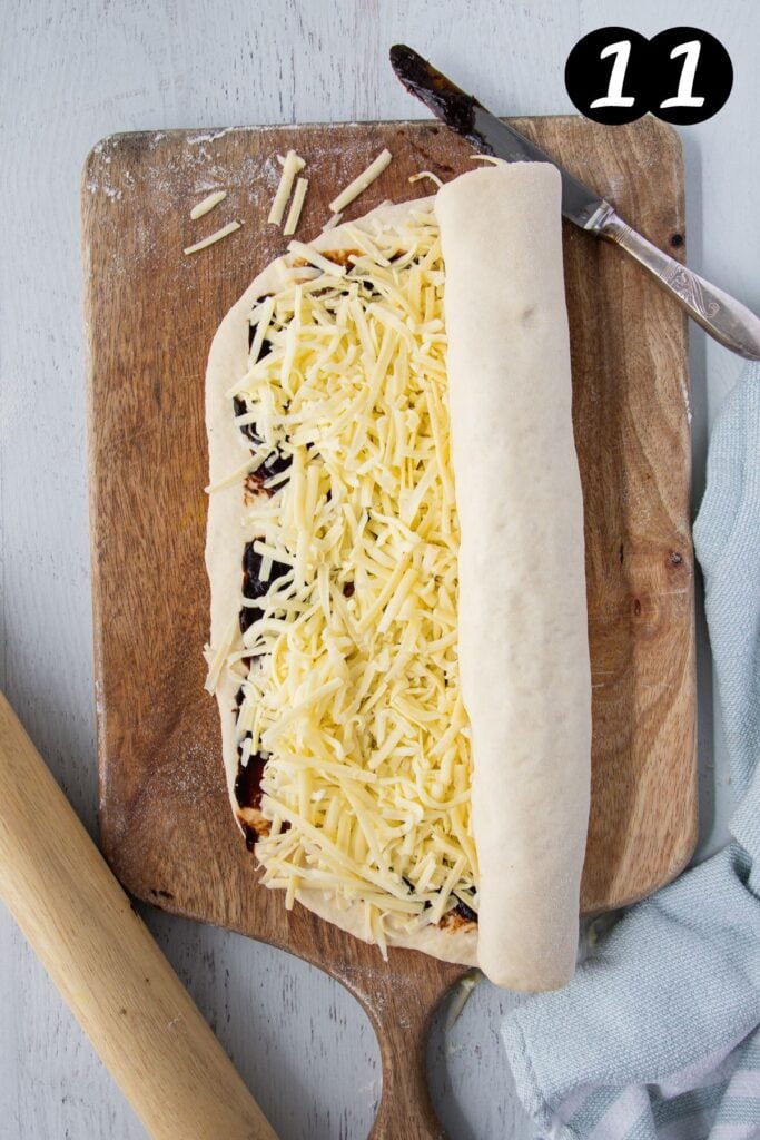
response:
M668 123L710 119L726 103L734 68L725 47L698 27L647 40L630 27L598 27L565 64L567 95L597 123L632 123L648 111Z

